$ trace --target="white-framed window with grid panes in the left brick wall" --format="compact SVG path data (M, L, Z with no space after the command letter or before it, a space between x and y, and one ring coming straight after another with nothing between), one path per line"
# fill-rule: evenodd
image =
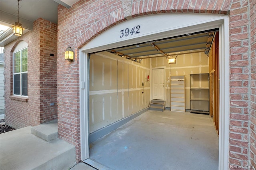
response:
M13 54L13 94L28 96L28 48Z

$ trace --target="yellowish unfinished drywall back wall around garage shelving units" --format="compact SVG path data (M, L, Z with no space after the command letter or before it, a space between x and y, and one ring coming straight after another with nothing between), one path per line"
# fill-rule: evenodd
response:
M175 64L168 64L166 57L151 58L151 63L152 68L165 68L166 107L170 107L170 82L168 82L168 77L172 75L185 76L185 108L190 109L190 74L209 73L208 57L202 52L190 53L178 55Z

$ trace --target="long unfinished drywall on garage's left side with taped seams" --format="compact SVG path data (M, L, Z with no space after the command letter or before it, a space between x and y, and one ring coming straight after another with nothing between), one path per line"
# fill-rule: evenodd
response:
M148 75L150 59L136 63L106 51L92 54L89 86L90 133L148 107Z

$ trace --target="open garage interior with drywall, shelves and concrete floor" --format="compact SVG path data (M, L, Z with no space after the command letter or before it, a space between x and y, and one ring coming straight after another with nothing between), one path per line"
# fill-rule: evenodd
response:
M218 35L90 53L89 158L110 169L217 169Z

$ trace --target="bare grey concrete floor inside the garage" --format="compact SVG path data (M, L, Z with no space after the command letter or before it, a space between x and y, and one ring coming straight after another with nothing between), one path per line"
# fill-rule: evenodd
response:
M116 170L217 170L209 115L146 111L90 144L90 160Z

